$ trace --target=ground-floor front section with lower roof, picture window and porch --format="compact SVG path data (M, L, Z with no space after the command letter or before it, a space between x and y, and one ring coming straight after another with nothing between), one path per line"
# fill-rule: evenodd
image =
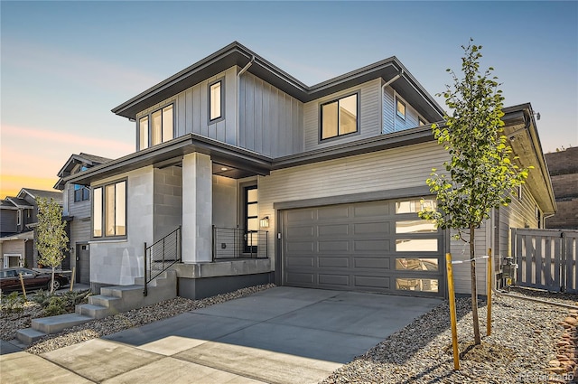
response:
M94 291L101 286L132 285L136 277L144 276L145 264L158 268L163 259L177 259L177 252L179 262L172 269L177 271L178 293L184 297L215 295L273 280L269 228L259 211L257 186L257 176L269 172L268 159L204 137L186 136L111 163L73 181L89 183L93 192L102 187L103 195L108 185L116 185L113 211L118 236L107 236L104 201L101 236L90 241ZM126 206L118 195L123 191ZM122 211L125 222L119 224ZM95 222L93 229L98 230L98 219L93 217ZM178 239L175 229L179 229ZM155 255L162 249L160 263L147 252L151 247Z

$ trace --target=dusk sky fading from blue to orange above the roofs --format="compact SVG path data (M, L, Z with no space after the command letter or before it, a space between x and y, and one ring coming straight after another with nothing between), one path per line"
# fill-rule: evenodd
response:
M435 95L471 37L505 105L540 113L544 152L578 145L576 2L2 1L0 14L0 198L51 190L73 153L134 152L135 123L110 109L233 41L308 85L395 55Z

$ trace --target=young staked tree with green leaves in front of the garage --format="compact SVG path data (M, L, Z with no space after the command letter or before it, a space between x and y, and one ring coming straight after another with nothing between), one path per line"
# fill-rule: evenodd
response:
M433 136L449 152L451 160L445 162L446 173L436 173L426 183L437 196L437 211L421 211L419 216L435 220L441 229L455 229L455 239L470 246L474 258L475 231L489 219L492 208L507 206L510 195L527 179L528 170L520 169L510 159L512 149L508 138L502 135L502 92L493 68L480 72L481 45L461 46L463 78L453 70L453 87L446 85L442 96L452 110L445 116L445 125L432 125ZM478 292L476 288L476 262L471 265L471 311L473 314L474 342L480 344L478 317Z

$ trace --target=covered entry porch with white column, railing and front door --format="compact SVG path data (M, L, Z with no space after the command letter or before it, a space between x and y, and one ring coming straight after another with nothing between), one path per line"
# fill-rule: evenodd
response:
M181 227L181 262L172 267L179 295L200 298L273 281L254 172L200 153L153 172L155 242Z

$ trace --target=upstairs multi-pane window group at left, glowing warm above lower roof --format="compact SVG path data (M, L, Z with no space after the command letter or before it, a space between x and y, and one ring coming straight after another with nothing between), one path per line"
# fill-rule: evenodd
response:
M138 148L143 150L172 140L174 117L172 104L138 120Z

